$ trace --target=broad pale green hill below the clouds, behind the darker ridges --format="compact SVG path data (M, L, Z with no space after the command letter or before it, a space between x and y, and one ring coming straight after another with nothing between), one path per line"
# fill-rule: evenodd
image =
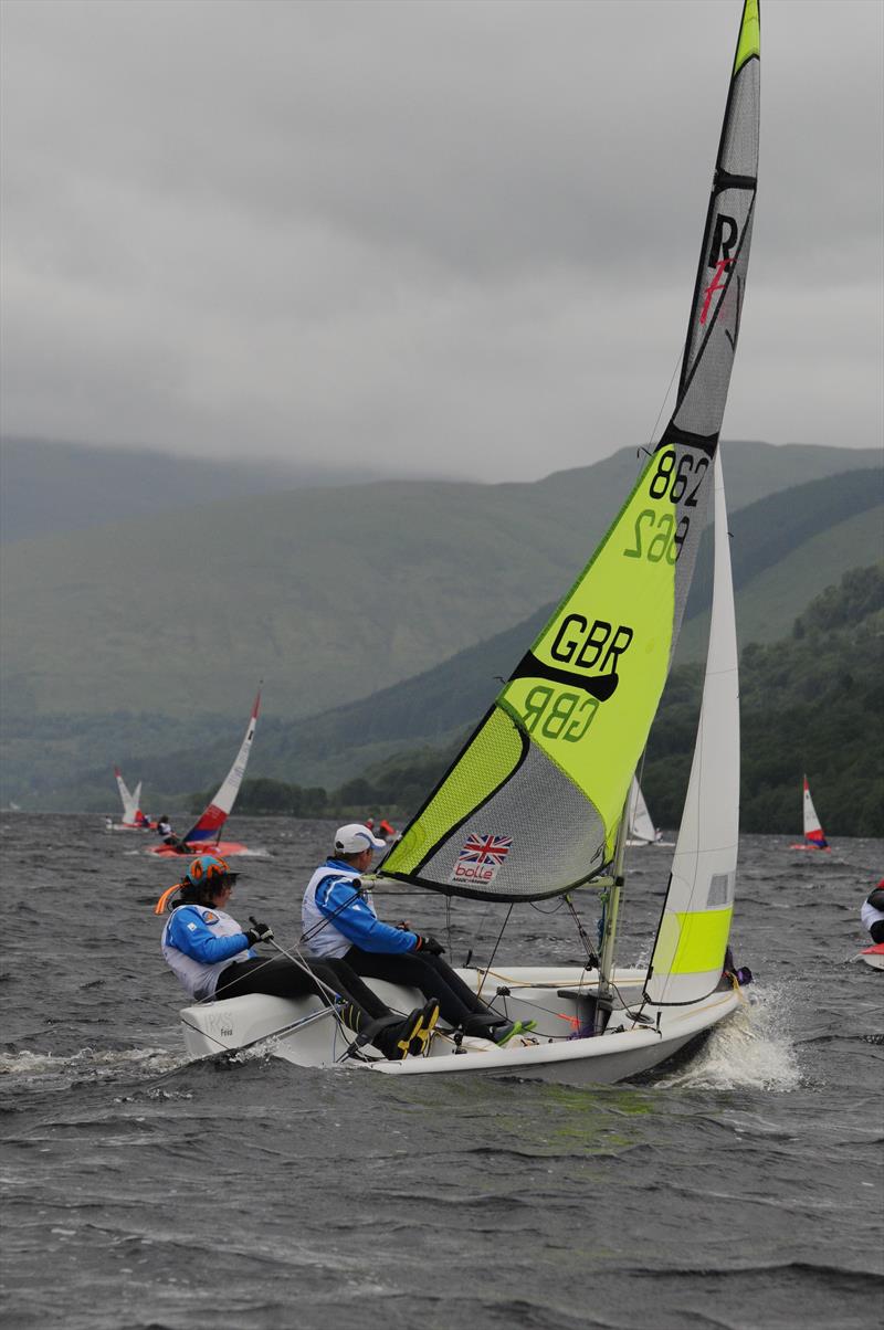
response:
M871 450L724 446L732 507ZM265 677L308 716L446 660L558 596L636 475L634 450L534 484L293 491L7 547L5 706L240 716Z

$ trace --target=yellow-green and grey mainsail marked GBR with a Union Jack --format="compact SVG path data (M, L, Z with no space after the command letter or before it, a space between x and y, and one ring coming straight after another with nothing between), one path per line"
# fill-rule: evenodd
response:
M746 290L758 124L758 0L747 0L672 418L382 876L530 900L587 882L611 861L706 525Z

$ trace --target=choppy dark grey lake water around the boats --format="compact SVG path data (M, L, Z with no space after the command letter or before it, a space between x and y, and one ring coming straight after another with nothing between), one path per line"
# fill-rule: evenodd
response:
M234 830L269 857L240 861L232 912L294 939L332 825ZM586 1091L188 1064L152 914L173 874L141 845L100 819L0 818L11 1326L880 1323L884 974L851 958L884 842L812 858L746 838L752 1004L688 1065ZM647 956L667 851L632 863L624 963ZM441 898L389 912L446 928ZM455 903L454 962L477 932L486 959L502 915ZM503 958L580 948L543 903L514 912Z

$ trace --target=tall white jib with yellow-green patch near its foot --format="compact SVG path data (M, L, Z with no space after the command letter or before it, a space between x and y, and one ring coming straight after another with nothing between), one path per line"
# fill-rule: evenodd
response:
M647 996L710 994L734 912L740 815L740 710L734 583L720 455L715 458L715 583L700 724Z

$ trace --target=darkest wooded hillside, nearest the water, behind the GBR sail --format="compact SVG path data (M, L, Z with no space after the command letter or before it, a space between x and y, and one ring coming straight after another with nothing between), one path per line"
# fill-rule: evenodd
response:
M853 569L795 621L791 637L750 644L740 661L743 831L797 833L807 773L831 835L880 835L884 826L884 572ZM687 787L702 668L667 685L642 773L660 826L676 827ZM328 795L281 782L246 782L242 810L363 815L413 810L465 734L402 751ZM198 801L197 801L198 802Z

